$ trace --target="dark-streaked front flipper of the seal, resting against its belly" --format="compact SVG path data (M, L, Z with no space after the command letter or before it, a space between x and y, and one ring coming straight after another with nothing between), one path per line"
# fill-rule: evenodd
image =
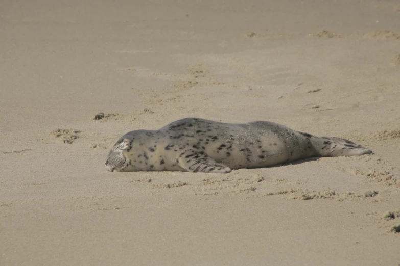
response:
M215 159L208 157L208 155L202 150L187 150L179 154L176 162L183 169L196 173L229 173L231 170L220 163L217 163Z

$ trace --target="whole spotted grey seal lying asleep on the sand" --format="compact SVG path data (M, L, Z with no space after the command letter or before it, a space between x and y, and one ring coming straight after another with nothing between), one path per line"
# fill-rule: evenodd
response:
M109 171L229 173L309 157L372 153L354 142L316 137L267 121L230 124L184 118L159 130L134 130L111 148Z

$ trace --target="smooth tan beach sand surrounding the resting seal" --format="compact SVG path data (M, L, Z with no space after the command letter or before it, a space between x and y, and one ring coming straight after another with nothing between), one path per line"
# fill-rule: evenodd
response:
M3 1L0 36L0 265L400 263L398 1ZM184 117L374 154L104 168L125 132Z

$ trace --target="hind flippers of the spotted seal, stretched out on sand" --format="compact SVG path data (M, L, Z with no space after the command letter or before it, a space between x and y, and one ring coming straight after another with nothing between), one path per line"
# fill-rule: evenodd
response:
M313 137L310 139L315 150L321 157L357 156L372 153L371 150L336 137Z

